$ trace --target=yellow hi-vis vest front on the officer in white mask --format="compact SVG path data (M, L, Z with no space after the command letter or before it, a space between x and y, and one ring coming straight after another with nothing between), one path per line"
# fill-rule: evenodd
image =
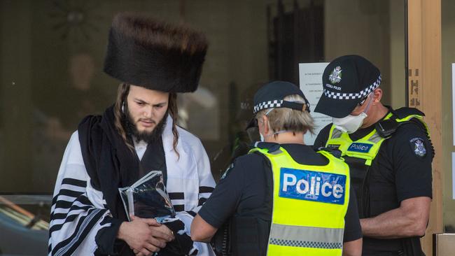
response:
M388 113L384 120L388 120L392 117L393 113ZM405 118L395 119L396 122L407 122L412 118L419 119L423 125L425 125L426 131L429 136L428 127L426 123L423 122L423 117L421 115L407 115ZM342 152L342 156L356 157L360 159L365 159L365 165L371 166L372 160L376 157L381 148L381 144L386 140L386 138L381 137L376 129L373 129L370 134L367 134L365 137L358 139L357 141L352 141L349 138L349 134L342 132L332 125L330 128L330 133L328 135L327 143L325 146L328 148L337 148Z

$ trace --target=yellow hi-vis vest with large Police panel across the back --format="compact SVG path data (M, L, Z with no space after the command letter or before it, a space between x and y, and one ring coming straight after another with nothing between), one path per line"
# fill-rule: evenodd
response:
M349 204L349 167L328 158L325 166L299 164L284 148L254 148L272 164L272 225L267 255L342 255L344 215Z

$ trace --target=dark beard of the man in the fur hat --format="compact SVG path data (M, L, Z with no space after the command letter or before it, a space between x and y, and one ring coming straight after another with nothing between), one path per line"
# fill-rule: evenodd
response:
M122 115L122 125L127 134L132 136L136 142L145 141L146 143L154 143L160 140L162 132L165 129L167 113L168 111L166 111L164 118L158 122L158 125L155 125L152 131L139 131L139 129L137 129L136 122L128 109L127 103L125 102L125 109ZM152 121L155 122L155 120Z

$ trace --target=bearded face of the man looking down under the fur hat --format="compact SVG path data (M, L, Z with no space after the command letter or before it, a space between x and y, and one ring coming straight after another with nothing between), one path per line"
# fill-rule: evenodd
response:
M152 134L167 113L169 92L130 85L127 110L139 134Z

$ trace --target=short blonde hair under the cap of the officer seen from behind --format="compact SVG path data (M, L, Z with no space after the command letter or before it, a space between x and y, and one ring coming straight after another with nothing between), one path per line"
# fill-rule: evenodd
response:
M298 94L288 95L283 100L300 103L305 102ZM269 108L259 111L256 114L256 118L262 117L267 111L269 111ZM292 108L274 108L267 114L267 118L269 119L269 129L273 132L286 130L293 131L294 134L296 132L306 134L309 131L311 134L314 134L314 120L307 111L297 111ZM277 135L274 134L274 136Z

